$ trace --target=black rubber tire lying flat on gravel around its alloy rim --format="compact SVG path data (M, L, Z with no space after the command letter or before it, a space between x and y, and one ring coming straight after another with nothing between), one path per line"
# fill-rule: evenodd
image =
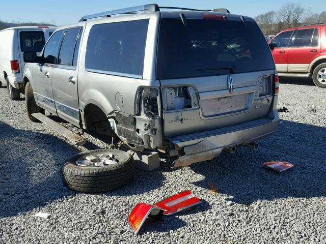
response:
M76 160L96 154L114 154L118 163L105 166L80 166ZM132 157L124 151L99 149L79 153L63 165L63 183L71 190L82 193L113 191L127 185L134 177Z

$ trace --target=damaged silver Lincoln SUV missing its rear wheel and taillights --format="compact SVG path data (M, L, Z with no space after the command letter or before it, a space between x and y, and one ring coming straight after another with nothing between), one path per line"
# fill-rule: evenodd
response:
M274 133L279 80L257 23L164 8L85 16L58 28L41 56L25 52L29 117L47 110L133 150L177 156L175 166Z

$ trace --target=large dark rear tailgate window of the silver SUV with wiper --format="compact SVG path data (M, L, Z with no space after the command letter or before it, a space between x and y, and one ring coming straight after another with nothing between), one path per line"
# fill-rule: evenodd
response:
M158 79L274 69L269 47L255 22L161 19Z

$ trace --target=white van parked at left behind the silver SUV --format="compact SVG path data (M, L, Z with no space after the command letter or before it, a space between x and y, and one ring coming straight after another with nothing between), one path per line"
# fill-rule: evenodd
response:
M0 31L0 87L7 85L10 99L20 98L24 51L40 53L57 27L19 26Z

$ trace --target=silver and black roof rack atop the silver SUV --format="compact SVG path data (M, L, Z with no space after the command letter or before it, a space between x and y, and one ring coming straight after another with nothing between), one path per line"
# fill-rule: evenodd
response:
M227 9L213 9L213 10L200 10L200 9L188 9L188 8L179 8L179 7L158 7L157 4L147 4L136 7L130 7L125 9L117 9L112 11L101 12L97 14L86 15L79 20L79 22L87 21L89 19L95 19L99 17L111 17L111 15L117 14L135 14L138 12L159 12L160 9L180 9L180 10L189 10L189 11L201 11L201 12L220 12L220 13L230 13Z

